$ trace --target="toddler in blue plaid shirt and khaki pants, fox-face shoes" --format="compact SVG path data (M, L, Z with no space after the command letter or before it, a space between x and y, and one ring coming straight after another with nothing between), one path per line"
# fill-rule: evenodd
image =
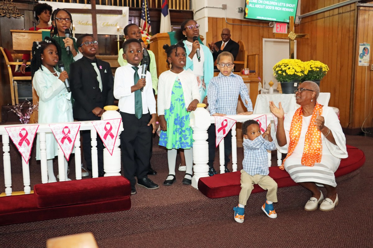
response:
M273 208L273 202L277 202L277 183L268 174L267 150L275 150L275 142L271 137L271 124L262 134L256 120L247 120L242 125L244 134L244 160L241 170L241 191L239 192L238 206L233 207L234 219L238 223L244 222L245 205L254 184L258 184L267 191L267 199L261 209L270 218L276 218L277 214ZM266 140L265 138L268 138Z

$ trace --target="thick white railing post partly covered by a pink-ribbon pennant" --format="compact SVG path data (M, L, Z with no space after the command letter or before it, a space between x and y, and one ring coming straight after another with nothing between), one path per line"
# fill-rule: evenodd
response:
M104 109L106 110L106 112L104 112L103 115L101 116L102 120L122 118L122 116L120 116L120 113L117 112L117 110L119 109L118 106L105 106ZM121 120L119 123L118 135L115 140L113 155L110 155L106 147L104 148L104 172L105 172L104 176L105 177L109 177L113 175L120 175L120 169L122 165L121 165L121 159L120 159L119 135L122 131L123 131L123 123Z

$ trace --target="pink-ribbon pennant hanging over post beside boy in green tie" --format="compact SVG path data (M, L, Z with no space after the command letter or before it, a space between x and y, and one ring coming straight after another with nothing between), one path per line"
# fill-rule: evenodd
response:
M122 118L110 120L97 120L92 122L102 142L110 155L113 155L115 141L118 136L120 121Z

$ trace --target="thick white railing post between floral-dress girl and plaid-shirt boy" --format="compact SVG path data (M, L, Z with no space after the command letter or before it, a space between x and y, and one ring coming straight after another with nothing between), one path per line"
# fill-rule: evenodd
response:
M209 144L207 129L211 125L210 113L204 109L206 104L198 103L197 109L190 113L190 126L193 129L193 162L194 175L192 186L198 189L200 177L209 176Z

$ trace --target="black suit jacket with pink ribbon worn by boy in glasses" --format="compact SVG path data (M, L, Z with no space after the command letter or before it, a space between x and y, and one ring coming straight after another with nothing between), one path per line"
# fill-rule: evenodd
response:
M110 64L97 59L97 68L100 71L102 82L101 92L92 62L91 59L83 57L70 64L70 89L75 99L74 119L99 120L100 117L95 116L92 110L95 107L103 108L114 103L114 79Z

